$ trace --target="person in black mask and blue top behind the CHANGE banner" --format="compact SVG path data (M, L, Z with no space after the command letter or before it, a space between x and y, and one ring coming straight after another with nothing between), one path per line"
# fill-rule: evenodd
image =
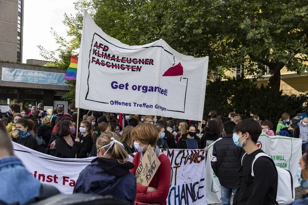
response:
M200 149L200 138L196 135L196 126L188 125L187 134L182 135L179 139L177 149Z

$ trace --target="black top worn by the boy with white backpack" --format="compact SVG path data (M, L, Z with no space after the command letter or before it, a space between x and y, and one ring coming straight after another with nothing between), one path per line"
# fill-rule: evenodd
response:
M258 158L254 164L255 177L251 175L252 161L260 152L263 151L259 149L244 156L233 205L274 205L268 197L271 195L276 200L277 195L278 175L273 160Z

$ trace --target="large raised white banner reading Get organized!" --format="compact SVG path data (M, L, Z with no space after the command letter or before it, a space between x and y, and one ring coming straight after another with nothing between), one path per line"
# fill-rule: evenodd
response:
M163 39L128 46L84 12L76 79L83 109L202 120L208 57L194 58Z

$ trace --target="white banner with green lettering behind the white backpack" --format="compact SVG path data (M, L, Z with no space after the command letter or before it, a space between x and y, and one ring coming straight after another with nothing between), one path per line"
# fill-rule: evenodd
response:
M215 142L209 146L206 158L206 179L208 182L211 181L211 183L207 183L206 186L207 203L221 202L220 183L210 165ZM299 166L299 159L302 156L301 145L301 139L283 136L267 136L264 132L262 132L257 142L259 149L262 149L266 154L271 156L276 167L289 170L292 173L294 187L300 186L296 172Z

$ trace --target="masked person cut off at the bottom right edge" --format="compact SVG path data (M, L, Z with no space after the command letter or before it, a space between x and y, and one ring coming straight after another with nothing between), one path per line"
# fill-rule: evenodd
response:
M300 186L306 190L306 194L301 199L297 199L292 205L308 204L308 151L303 154L299 160L297 179Z

